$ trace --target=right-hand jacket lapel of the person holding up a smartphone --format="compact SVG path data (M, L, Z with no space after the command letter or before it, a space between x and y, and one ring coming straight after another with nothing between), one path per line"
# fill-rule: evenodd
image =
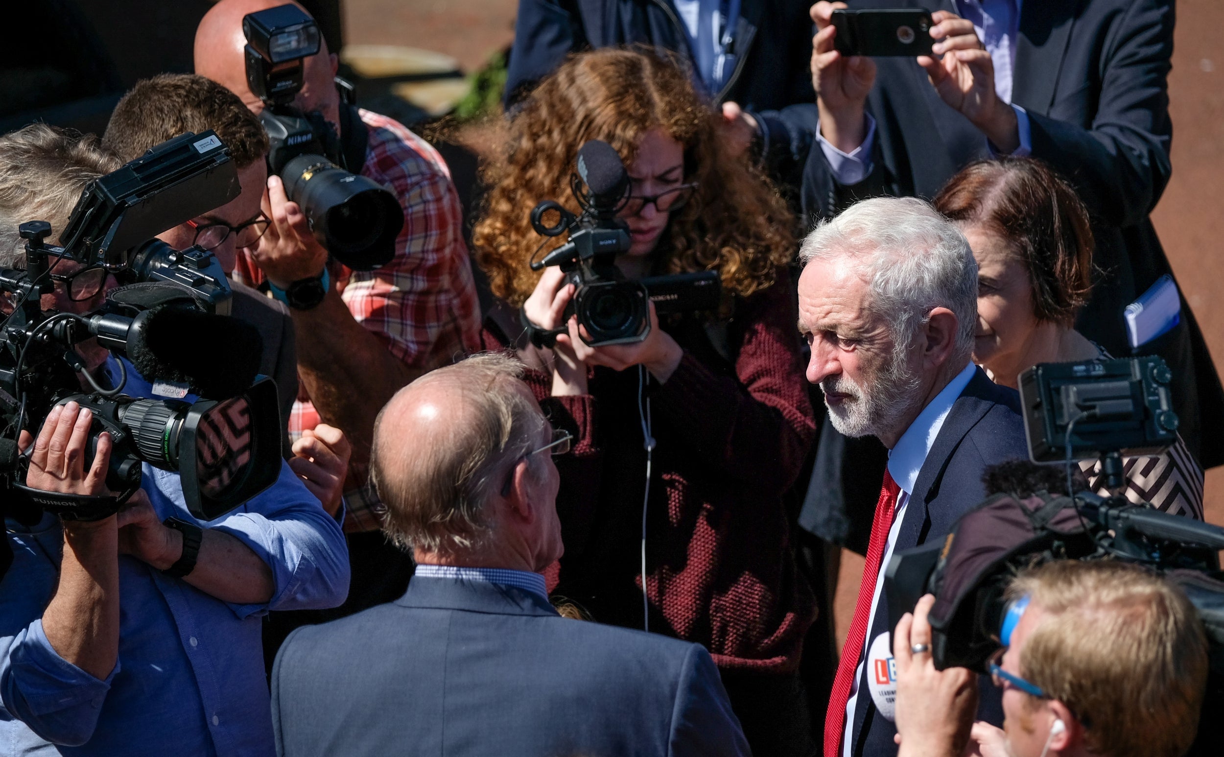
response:
M1083 0L1023 0L1011 102L1038 115L1050 111L1071 27Z

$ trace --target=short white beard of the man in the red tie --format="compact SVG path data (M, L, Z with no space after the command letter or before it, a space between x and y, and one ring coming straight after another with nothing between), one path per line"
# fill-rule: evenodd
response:
M820 382L825 396L830 392L847 394L834 408L825 399L829 420L845 436L880 436L898 431L900 420L922 402L922 377L905 360L890 355L889 365L875 371L864 386L845 375L829 376Z

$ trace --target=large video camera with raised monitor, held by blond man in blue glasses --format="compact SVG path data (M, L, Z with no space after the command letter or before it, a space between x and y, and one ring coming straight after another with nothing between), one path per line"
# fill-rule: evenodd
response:
M1224 574L1217 555L1224 550L1224 528L1135 505L1116 494L1125 485L1122 454L1159 454L1176 441L1171 378L1157 356L1042 364L1022 374L1032 462L1004 463L988 472L987 483L998 494L962 516L944 539L892 556L884 578L890 627L923 594L934 594L929 620L935 668L984 674L987 660L1001 646L1010 610L1005 590L1018 571L1051 560L1137 562L1180 586L1198 611L1211 646L1208 701L1219 702ZM1113 496L1077 491L1082 479L1077 484L1071 465L1081 459L1100 461ZM1062 463L1066 470L1037 463ZM1208 753L1202 751L1204 739L1220 746L1217 736L1201 729L1200 751L1191 753Z

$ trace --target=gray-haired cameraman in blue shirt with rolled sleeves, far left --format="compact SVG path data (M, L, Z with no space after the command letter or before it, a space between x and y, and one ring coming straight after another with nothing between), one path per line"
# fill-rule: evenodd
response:
M22 220L62 228L83 185L115 168L88 138L45 126L23 132L0 137L4 250L20 250ZM71 281L55 282L44 309L100 304L105 279L72 276L70 261L56 273ZM92 341L77 352L95 375L114 360ZM48 416L28 485L105 494L105 436L92 468L82 464L89 420L75 403ZM23 448L32 442L24 432ZM149 465L143 474L142 491L102 521L6 518L13 563L0 581L4 753L274 752L261 619L269 609L343 601L349 563L339 524L286 464L272 488L207 523L188 513L177 474ZM184 534L163 523L170 517L202 528L193 562Z

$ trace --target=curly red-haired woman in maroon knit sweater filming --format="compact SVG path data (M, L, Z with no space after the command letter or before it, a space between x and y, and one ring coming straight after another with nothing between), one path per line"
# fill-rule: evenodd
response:
M782 503L814 435L786 268L793 219L723 152L716 125L689 77L654 53L586 53L545 80L510 121L475 229L509 306L486 320L485 348L515 349L553 424L574 435L558 461L556 593L600 622L704 644L753 751L809 755L797 669L814 604ZM574 287L528 266L542 241L528 213L546 198L579 209L568 186L588 140L608 142L630 178L622 273L717 271L717 314L661 322L651 307L645 341L606 347L564 321ZM554 348L530 345L510 310L520 306L535 326L567 330Z

